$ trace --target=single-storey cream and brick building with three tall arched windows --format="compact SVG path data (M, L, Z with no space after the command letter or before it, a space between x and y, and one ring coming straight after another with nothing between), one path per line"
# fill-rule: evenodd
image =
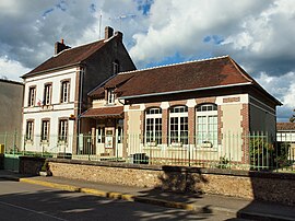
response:
M274 140L281 104L228 56L122 72L88 95L82 124L95 154L160 161L248 162L245 135Z

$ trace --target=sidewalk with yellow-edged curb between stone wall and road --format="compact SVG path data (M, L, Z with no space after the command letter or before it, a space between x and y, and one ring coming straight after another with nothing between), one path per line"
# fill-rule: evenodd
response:
M199 212L223 211L234 213L238 218L250 220L295 220L295 207L257 200L251 201L234 197L224 197L217 195L175 194L161 191L160 189L91 183L55 176L27 177L3 170L0 170L0 178L43 185L70 191L80 191L101 197L153 203L164 207L181 208Z

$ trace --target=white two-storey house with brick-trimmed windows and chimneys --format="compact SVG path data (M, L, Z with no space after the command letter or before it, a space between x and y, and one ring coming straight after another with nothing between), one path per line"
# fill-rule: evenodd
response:
M70 48L56 43L55 55L24 74L23 135L26 151L76 153L80 115L87 92L119 71L134 70L122 33L106 27L105 39Z

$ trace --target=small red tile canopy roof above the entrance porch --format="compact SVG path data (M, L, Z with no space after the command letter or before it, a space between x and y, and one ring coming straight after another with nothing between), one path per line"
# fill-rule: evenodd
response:
M123 118L123 106L90 108L82 114L82 117Z

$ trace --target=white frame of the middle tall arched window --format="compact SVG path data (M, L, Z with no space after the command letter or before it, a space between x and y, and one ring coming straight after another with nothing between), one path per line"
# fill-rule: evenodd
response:
M186 112L180 112L180 113L172 113L172 108L187 108ZM174 106L169 108L169 146L172 147L188 147L188 142L189 142L189 138L188 138L188 132L189 132L189 128L188 128L188 107L187 106ZM177 118L177 140L175 140L172 137L172 118ZM182 137L181 136L181 118L186 118L187 119L187 130L184 130L187 132L187 137ZM182 132L184 132L182 131ZM174 140L173 140L174 139ZM185 141L185 142L184 142Z

